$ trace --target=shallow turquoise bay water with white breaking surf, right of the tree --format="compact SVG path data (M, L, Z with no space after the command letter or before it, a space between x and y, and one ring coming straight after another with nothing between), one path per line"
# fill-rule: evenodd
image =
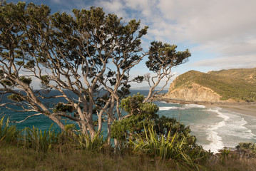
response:
M256 117L204 105L155 102L159 115L174 117L189 125L199 145L217 152L239 142L256 142Z

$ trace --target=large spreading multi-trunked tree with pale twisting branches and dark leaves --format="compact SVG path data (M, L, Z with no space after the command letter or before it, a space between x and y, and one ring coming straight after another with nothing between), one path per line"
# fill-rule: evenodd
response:
M176 46L157 41L143 51L141 38L147 30L140 28L140 21L127 23L101 8L51 14L45 5L1 1L0 90L12 93L8 96L12 102L1 106L19 105L24 112L46 115L63 130L61 119L73 120L91 138L107 122L110 138L111 124L124 117L119 106L130 93L128 83L148 81L146 102L164 77L170 79L171 68L190 56L188 50L177 52ZM155 76L130 78L130 70L144 57ZM34 90L36 81L41 82L41 90ZM58 90L59 95L46 95L50 90ZM71 92L76 98L68 95ZM48 98L59 103L43 103Z

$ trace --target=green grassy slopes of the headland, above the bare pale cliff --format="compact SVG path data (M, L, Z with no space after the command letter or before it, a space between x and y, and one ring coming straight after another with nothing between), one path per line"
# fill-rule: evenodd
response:
M188 71L175 79L174 88L188 87L197 83L222 95L220 100L256 101L256 68L222 71Z

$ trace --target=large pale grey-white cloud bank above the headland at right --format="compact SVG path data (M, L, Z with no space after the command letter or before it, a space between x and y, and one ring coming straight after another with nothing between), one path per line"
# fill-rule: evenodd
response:
M192 52L215 54L213 59L203 59L190 66L253 68L256 66L255 6L253 0L246 3L160 0L158 9L163 17L155 22L150 33L197 44Z

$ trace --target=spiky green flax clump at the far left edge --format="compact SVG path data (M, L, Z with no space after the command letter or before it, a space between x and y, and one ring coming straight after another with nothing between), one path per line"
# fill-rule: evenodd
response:
M22 130L18 130L16 125L9 125L9 118L4 123L4 117L0 120L0 142L17 142L19 134Z

